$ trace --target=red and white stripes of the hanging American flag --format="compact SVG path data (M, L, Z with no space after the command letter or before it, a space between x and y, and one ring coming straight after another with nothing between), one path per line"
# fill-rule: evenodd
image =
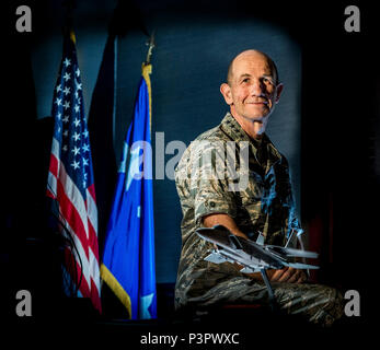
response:
M79 290L90 298L94 307L101 312L100 270L97 247L97 208L94 186L87 189L84 200L80 190L67 174L59 159L59 142L54 138L48 174L48 196L58 203L60 220L70 233L78 254L66 248L66 261L76 261L77 268L68 268L73 281L82 280ZM78 276L72 276L77 271Z

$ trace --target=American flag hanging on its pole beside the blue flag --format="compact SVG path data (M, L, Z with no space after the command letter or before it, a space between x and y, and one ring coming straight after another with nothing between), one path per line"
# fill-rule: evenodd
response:
M47 195L54 199L61 234L72 243L65 247L64 271L76 287L76 296L90 298L101 312L97 209L73 33L64 39L51 115L55 127Z

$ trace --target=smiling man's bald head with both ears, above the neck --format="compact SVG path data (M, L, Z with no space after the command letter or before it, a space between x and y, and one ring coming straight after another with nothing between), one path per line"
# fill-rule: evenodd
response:
M232 116L245 122L264 122L274 110L281 90L270 59L256 50L237 56L229 71L229 82L220 86Z

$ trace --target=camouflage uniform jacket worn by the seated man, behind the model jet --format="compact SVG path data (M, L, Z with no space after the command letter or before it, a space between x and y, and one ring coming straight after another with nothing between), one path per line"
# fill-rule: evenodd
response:
M212 247L195 231L205 215L226 213L250 238L262 232L266 244L284 245L290 230L300 229L287 160L266 135L260 143L252 140L230 113L191 143L175 168L175 184L183 213L176 307L212 294L222 281L246 278L237 265L204 260Z

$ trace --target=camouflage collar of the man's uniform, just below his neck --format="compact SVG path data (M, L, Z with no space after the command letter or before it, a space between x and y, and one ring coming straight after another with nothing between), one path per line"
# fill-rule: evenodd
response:
M257 153L257 148L252 142L252 139L247 136L247 133L243 130L241 125L237 121L235 118L231 115L231 113L227 113L224 118L221 120L221 129L223 132L226 132L233 141L249 141L250 147L252 148L253 154L256 158ZM256 142L255 142L256 143ZM268 162L267 162L267 170L275 163L277 162L281 155L275 148L275 145L272 143L269 138L266 136L266 133L263 135L263 139L261 142L262 147L266 147L268 151ZM257 160L257 158L256 158Z

